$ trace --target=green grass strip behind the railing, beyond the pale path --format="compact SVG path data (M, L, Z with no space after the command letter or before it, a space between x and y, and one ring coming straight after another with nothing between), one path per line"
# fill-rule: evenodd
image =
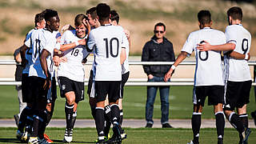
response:
M170 87L170 118L191 118L192 114L192 86ZM87 87L85 87L87 90ZM59 92L59 90L58 90ZM146 86L126 86L123 100L124 118L145 118ZM78 118L92 118L88 97L79 102ZM15 86L0 86L0 118L13 118L18 113L18 98ZM54 110L54 118L65 118L65 98L58 99ZM154 103L154 118L161 118L161 104L159 94ZM213 106L203 108L202 118L214 118ZM250 92L248 114L256 109L254 91ZM250 115L250 114L249 114ZM249 116L250 118L250 116Z

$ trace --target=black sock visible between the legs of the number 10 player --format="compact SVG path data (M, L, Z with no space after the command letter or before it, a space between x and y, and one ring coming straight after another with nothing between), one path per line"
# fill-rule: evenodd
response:
M104 134L105 136L107 137L107 135L109 134L110 132L110 126L111 126L111 112L110 112L110 106L105 106L104 108L104 118L105 118L105 122L104 122Z

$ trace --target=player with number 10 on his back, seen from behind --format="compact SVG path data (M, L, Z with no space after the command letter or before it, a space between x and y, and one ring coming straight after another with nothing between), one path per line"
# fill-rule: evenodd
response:
M87 45L90 50L95 47L94 62L97 63L94 71L94 84L97 102L95 123L98 132L98 143L105 143L103 129L106 94L108 94L110 102L111 122L113 123L114 141L112 142L122 142L119 130L118 93L122 80L121 64L126 59L124 44L127 38L121 26L111 26L109 21L110 6L106 3L100 3L96 6L96 11L101 26L90 31Z

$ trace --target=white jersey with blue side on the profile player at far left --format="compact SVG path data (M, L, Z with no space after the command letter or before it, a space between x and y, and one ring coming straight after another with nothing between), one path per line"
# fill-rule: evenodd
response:
M30 65L29 77L46 78L40 63L40 54L43 49L50 53L46 58L46 62L51 76L54 75L54 62L52 58L56 44L56 34L56 32L52 33L46 29L34 30L30 38L26 40L25 45L32 48L32 65Z

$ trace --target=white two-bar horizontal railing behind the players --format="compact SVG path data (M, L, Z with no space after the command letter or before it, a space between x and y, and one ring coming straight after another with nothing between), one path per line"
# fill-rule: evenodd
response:
M130 65L172 65L174 62L139 62L129 61ZM0 65L16 65L14 60L0 60ZM91 65L92 61L86 62L86 65ZM195 65L195 62L181 62L180 65ZM249 66L256 65L256 62L249 61ZM1 85L21 85L22 82L15 82L14 78L0 78ZM58 84L58 82L57 82ZM88 85L88 79L85 81L85 86ZM193 86L194 78L171 78L170 82L147 82L146 78L129 78L126 86ZM253 82L252 86L256 86Z

